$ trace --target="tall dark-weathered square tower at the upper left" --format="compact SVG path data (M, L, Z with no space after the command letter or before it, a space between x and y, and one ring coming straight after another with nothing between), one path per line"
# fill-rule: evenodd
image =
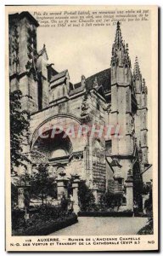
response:
M23 108L38 109L37 20L28 12L9 15L10 90L21 90Z

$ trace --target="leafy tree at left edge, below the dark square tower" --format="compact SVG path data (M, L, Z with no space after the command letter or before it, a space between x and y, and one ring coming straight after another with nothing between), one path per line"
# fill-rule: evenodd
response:
M14 166L24 166L30 162L28 156L22 154L22 142L28 139L30 114L22 109L21 100L23 96L20 90L10 91L10 154L11 154L11 172L14 172Z

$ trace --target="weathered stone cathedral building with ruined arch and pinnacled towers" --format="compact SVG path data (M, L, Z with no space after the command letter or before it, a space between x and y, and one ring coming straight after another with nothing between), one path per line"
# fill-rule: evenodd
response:
M58 72L48 63L45 45L37 49L37 20L28 13L9 15L10 90L20 89L31 96L22 102L31 113L30 139L24 143L35 172L39 163L48 163L56 176L78 175L87 181L96 200L109 190L123 195L122 208L142 207L143 175L149 168L147 141L147 86L138 66L132 72L128 45L117 23L108 69L70 82L68 70ZM111 49L110 49L111 50ZM67 135L69 127L120 125L120 136L81 137ZM53 127L62 126L58 136ZM97 129L97 128L96 128ZM39 133L42 131L42 136ZM21 170L16 170L20 174Z

